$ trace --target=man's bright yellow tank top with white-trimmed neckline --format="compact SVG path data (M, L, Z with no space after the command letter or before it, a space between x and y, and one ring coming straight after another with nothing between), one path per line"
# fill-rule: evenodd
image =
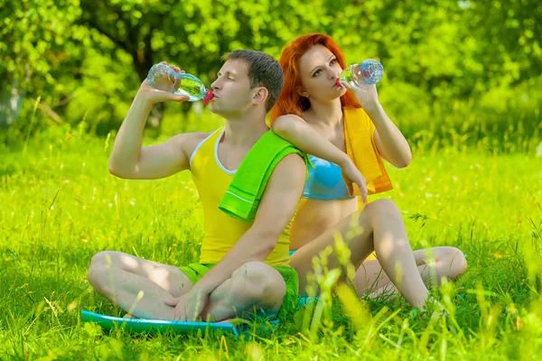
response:
M217 129L201 141L190 158L192 180L200 194L203 206L203 241L201 243L201 264L218 264L247 232L252 224L229 217L219 209L220 200L236 171L227 170L219 159L219 143L224 127ZM275 249L264 261L266 264L289 264L288 248L292 219L288 222Z

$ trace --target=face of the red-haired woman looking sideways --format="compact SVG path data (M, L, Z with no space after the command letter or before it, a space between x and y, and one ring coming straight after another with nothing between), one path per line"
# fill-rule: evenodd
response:
M299 71L303 88L300 94L309 100L329 102L341 97L346 89L337 86L341 65L328 48L322 44L314 45L299 60Z

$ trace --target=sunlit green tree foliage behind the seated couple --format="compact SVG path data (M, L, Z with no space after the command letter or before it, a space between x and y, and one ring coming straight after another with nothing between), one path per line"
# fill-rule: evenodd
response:
M468 144L529 152L540 137L542 4L537 0L0 4L3 133L33 134L85 120L91 131L107 134L122 122L155 62L167 60L210 84L228 51L256 49L278 57L296 36L325 32L350 63L381 60L386 71L378 85L381 101L413 142L441 146L460 136ZM17 112L7 106L14 94L23 99L16 121ZM160 110L162 122L151 125L150 134L220 123L205 110L192 112L190 105Z

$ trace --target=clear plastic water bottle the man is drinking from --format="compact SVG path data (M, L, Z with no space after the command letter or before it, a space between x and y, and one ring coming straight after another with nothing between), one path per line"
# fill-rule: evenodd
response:
M190 97L188 101L203 99L208 104L213 97L212 91L205 88L203 82L191 74L178 73L165 64L154 64L149 70L147 81L151 87L170 91L173 94Z

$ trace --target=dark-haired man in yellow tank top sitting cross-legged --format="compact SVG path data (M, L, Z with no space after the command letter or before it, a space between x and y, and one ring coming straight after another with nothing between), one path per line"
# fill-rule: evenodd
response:
M303 158L291 153L278 162L252 223L230 218L218 208L234 170L269 130L266 113L282 86L282 69L272 57L233 51L211 85L210 110L226 119L224 129L177 134L163 144L142 147L152 106L188 99L151 88L145 79L117 134L109 171L137 180L192 171L204 210L200 264L180 269L100 252L89 267L89 282L99 293L135 317L181 321L220 321L254 310L276 314L283 301L295 302L298 279L288 265L288 243L291 218L304 189Z

